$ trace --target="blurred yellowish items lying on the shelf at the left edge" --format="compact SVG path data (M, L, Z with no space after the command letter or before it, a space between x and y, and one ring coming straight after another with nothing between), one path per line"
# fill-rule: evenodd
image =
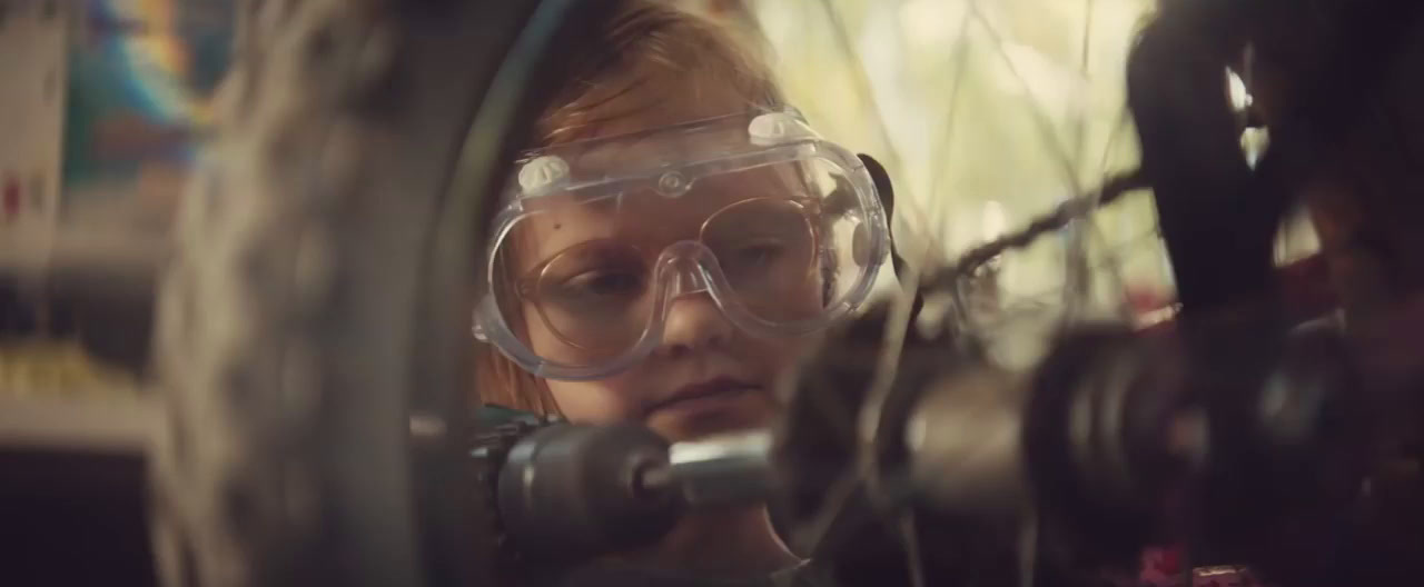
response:
M74 341L0 343L0 398L134 398L138 379L95 360Z

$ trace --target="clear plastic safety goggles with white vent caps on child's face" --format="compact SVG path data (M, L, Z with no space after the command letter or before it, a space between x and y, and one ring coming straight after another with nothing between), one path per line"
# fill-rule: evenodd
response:
M527 154L486 248L476 338L550 379L601 379L706 295L755 336L866 301L890 252L864 164L795 111L708 118Z

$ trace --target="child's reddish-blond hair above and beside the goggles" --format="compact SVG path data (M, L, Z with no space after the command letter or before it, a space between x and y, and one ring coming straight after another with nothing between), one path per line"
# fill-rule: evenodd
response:
M587 138L605 124L637 118L662 103L658 91L644 91L659 83L676 84L678 93L691 93L681 95L693 98L708 88L731 88L748 107L783 104L766 64L716 23L671 1L619 0L615 16L598 31L597 43L575 57L568 81L538 117L530 148ZM511 292L500 294L513 298ZM476 349L476 389L486 403L558 413L548 385L490 345Z

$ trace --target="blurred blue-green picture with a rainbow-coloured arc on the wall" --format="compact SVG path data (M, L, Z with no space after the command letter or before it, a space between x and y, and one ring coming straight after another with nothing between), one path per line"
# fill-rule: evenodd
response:
M70 43L67 205L172 197L226 67L232 3L85 1Z

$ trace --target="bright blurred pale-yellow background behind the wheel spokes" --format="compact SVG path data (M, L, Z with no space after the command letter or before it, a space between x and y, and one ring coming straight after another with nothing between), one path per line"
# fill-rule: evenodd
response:
M1136 164L1125 61L1155 0L711 0L830 138L884 162L899 245L944 261ZM1146 194L1094 222L1099 269L1148 299L1171 272ZM1062 241L1007 255L1010 306L1052 305ZM1109 301L1109 299L1105 299Z

